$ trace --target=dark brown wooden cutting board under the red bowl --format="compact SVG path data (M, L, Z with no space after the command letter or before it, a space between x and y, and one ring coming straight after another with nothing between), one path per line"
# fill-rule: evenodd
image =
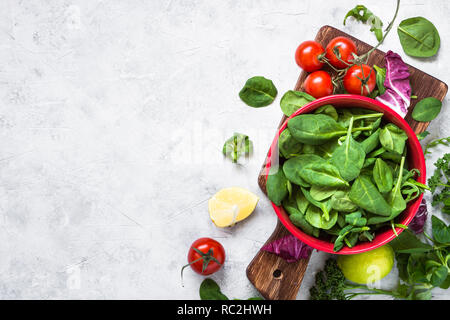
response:
M367 52L373 48L367 43L364 43L361 40L358 40L345 32L330 26L323 26L320 28L315 40L321 43L325 48L331 39L338 36L345 36L352 39L356 44L359 54ZM399 52L399 54L404 55L403 52ZM384 52L375 50L372 53L368 64L376 64L380 67L384 67ZM417 101L420 101L426 97L435 97L442 101L447 94L448 87L444 82L426 74L425 72L410 65L408 66L411 73L410 80L412 94L416 95L417 99L413 99L411 101L411 106L408 109L408 114L406 115L405 120L413 128L414 132L418 134L425 131L428 127L428 122L417 122L411 118L411 112L414 109L415 104ZM325 68L325 70L333 74L331 69ZM304 91L302 85L307 75L308 74L306 72L302 71L294 90ZM286 119L287 117L282 117L278 128ZM278 132L278 129L276 132ZM261 190L267 194L266 178L264 175L265 166L266 163L263 164L261 172L259 173L258 184ZM266 243L280 239L287 235L289 235L289 231L278 220L274 232ZM273 300L293 300L297 297L308 262L309 259L301 259L298 262L287 263L275 254L260 250L247 267L247 277L264 298Z

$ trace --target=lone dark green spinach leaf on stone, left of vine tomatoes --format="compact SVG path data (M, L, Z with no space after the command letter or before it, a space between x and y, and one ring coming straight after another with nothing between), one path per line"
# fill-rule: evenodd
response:
M250 107L260 108L271 104L277 93L272 80L256 76L247 80L239 97Z

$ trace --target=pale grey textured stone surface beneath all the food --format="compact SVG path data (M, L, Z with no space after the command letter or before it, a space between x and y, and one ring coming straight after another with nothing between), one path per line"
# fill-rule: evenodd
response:
M342 26L360 2L393 15L394 1L372 0L1 1L0 298L197 299L202 278L186 270L182 287L180 268L201 236L226 248L223 292L254 295L245 268L276 223L256 178L300 72L294 51L325 24L374 44L367 26ZM429 18L440 52L405 56L395 29L381 49L449 81L449 14L447 0L402 1L397 24ZM239 100L254 75L276 84L273 105ZM447 109L427 140L450 135ZM255 143L241 165L220 153L235 131ZM207 200L234 185L261 200L218 229ZM300 299L326 256L314 253Z

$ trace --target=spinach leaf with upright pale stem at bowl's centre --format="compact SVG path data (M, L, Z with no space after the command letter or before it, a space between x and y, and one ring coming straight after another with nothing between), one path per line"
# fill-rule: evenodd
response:
M353 118L350 120L344 143L336 148L331 157L331 163L338 168L341 177L346 181L352 181L359 176L366 156L359 142L353 139L352 128Z

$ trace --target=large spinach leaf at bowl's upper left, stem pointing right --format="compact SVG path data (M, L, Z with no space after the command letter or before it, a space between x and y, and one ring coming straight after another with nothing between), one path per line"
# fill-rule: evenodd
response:
M298 115L288 121L288 128L295 139L310 145L320 145L347 133L344 127L324 114Z

